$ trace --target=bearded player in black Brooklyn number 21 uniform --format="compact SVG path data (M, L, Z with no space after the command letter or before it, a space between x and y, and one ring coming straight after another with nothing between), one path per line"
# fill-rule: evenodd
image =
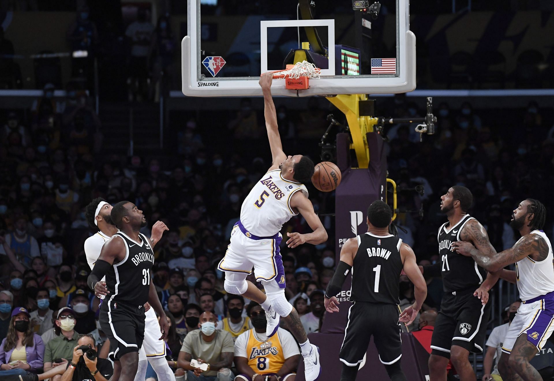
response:
M494 255L496 251L483 225L468 214L473 202L468 188L454 186L440 199L440 210L448 217L437 236L441 261L420 266L427 276L442 276L444 289L431 339L430 379L445 381L448 359L451 359L461 381L475 381L469 353L483 353L490 313L489 290L498 276L487 274L472 258L453 251L452 244L468 241L487 255Z

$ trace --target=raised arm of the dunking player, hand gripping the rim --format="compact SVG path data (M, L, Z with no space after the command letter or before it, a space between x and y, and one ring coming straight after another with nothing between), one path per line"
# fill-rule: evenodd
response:
M273 73L264 73L260 78L261 91L264 94L264 118L265 128L268 130L269 147L271 148L271 168L279 168L279 164L285 161L286 155L283 152L281 136L279 135L279 126L277 124L277 114L273 97L271 97L271 82Z

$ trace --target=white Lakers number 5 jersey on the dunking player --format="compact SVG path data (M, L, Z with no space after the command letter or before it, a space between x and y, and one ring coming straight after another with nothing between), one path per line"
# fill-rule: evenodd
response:
M298 191L308 197L304 184L283 179L280 169L266 173L244 199L240 222L254 235L269 237L279 233L283 224L297 214L290 206L290 198Z

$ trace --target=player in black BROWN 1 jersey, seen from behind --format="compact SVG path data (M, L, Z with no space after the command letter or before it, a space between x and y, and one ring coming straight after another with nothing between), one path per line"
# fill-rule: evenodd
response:
M367 209L367 233L346 241L342 246L340 262L325 292L325 308L338 312L335 295L341 292L348 272L352 271L348 324L342 342L340 361L341 381L356 379L358 366L370 344L371 336L393 381L406 381L400 367L402 341L401 322L416 318L425 297L427 285L418 269L416 255L402 239L389 234L392 211L387 203L375 201ZM399 279L404 270L415 286L416 302L398 317Z

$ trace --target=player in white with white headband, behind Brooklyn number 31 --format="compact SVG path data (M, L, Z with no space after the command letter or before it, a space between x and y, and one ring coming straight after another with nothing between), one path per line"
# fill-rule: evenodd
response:
M92 270L95 262L100 256L102 246L112 235L117 233L117 228L110 218L112 206L103 198L95 198L86 205L85 215L92 229L98 230L96 234L90 236L85 241L85 255L90 269ZM166 224L161 221L152 226L150 243L152 248L156 246L162 238L163 231L168 230ZM102 279L103 280L103 279ZM135 381L142 381L146 377L147 361L150 362L160 381L175 381L175 374L167 364L166 344L160 337L160 325L156 317L156 312L149 305L145 305L145 331L142 351L139 351L139 367L135 376Z

